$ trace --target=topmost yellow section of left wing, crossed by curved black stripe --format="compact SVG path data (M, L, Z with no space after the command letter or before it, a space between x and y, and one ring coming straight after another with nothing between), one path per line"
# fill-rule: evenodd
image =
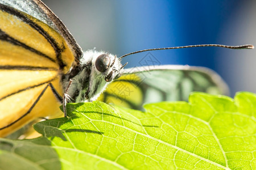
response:
M40 20L13 8L12 10L15 14L10 11L0 11L1 31L18 41L20 47L26 49L24 47L26 45L30 50L34 50L35 54L51 58L52 62L59 66L63 63L61 70L67 73L75 57L63 37Z

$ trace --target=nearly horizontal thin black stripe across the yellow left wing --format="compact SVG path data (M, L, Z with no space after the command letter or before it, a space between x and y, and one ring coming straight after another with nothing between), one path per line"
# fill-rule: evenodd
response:
M0 70L30 70L30 71L58 71L54 67L34 67L34 66L11 66L11 65L0 65Z

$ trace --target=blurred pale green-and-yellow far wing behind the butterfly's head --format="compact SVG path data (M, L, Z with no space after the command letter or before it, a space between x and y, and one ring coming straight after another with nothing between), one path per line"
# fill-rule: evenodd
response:
M148 66L125 69L106 88L99 100L133 109L144 103L187 100L192 91L228 95L221 77L205 67Z

